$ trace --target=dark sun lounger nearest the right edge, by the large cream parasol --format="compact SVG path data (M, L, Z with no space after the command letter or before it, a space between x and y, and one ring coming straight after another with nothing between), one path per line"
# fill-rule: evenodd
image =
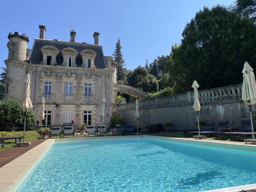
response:
M250 118L248 119L241 119L240 125L239 125L239 131L233 132L232 129L230 129L229 132L218 132L215 134L215 137L219 136L225 136L225 137L243 137L247 138L248 136L252 136L251 132L251 121Z

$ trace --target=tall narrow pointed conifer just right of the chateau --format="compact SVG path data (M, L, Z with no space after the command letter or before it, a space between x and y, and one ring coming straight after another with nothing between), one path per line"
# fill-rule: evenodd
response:
M121 52L121 44L120 39L118 38L116 42L116 49L113 52L113 59L117 63L116 68L116 75L117 75L117 81L126 81L126 75L127 75L127 69L125 68L125 60L123 58L122 52Z

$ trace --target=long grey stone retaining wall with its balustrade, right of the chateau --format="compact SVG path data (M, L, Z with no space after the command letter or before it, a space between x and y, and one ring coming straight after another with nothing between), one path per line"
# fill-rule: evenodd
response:
M208 121L228 120L230 128L238 128L241 118L249 118L248 106L241 100L242 84L198 90L201 103L200 119ZM196 112L192 108L193 89L183 94L139 101L140 121L149 121L150 125L174 123L173 130L195 130ZM253 113L256 113L253 106ZM116 113L122 114L124 121L136 121L135 102L116 107Z

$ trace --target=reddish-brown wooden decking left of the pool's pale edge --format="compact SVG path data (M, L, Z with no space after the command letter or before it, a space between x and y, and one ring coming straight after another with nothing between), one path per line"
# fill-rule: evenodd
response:
M29 151L30 149L34 148L35 146L43 142L44 140L35 140L35 141L32 141L31 145L29 146L12 147L4 151L0 151L0 167L6 165L12 160L15 160L20 155L26 153L26 151Z

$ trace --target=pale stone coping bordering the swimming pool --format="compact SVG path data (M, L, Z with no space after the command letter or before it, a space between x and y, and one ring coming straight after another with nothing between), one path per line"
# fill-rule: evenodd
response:
M109 137L75 137L75 138L62 138L62 139L47 139L43 143L37 145L26 153L20 155L15 160L12 160L10 163L7 163L3 167L0 167L0 192L15 191L16 187L23 181L26 175L29 174L38 160L44 155L44 153L49 149L49 147L55 142L61 142L65 140L83 140L83 139L97 139L97 138L118 138L118 137L157 137L157 138L166 138L172 140L189 140L196 142L207 142L207 143L220 143L220 144L229 144L229 145L240 145L240 146L253 146L240 142L233 141L221 141L221 140L195 140L193 138L179 138L179 137L161 137L161 136L151 136L151 135L135 135L135 136L109 136ZM213 189L204 192L238 192L241 190L250 190L256 189L255 184L243 185L243 186L234 186L223 189Z

